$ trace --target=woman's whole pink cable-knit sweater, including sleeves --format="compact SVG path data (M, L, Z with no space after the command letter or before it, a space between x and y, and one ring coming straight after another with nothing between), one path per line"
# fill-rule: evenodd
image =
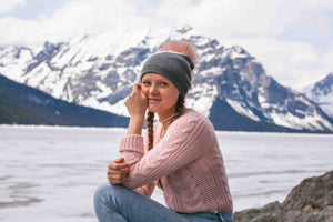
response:
M232 212L232 199L223 159L211 122L194 110L169 125L154 128L154 148L147 151L147 137L127 135L120 152L130 164L123 183L150 196L161 179L167 205L184 213ZM150 185L148 185L151 183Z

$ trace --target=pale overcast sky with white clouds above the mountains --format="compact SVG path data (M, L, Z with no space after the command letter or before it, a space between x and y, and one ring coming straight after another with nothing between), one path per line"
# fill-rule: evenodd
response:
M332 0L0 0L2 46L185 24L225 47L243 47L286 87L333 72Z

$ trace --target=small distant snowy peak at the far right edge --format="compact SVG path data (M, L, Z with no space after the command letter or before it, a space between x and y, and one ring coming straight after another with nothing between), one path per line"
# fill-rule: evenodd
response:
M304 93L333 118L333 73L304 88Z

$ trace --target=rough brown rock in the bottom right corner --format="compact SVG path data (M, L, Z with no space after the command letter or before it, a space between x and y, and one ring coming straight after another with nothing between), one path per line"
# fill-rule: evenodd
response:
M286 199L234 213L234 222L333 222L333 171L303 180Z

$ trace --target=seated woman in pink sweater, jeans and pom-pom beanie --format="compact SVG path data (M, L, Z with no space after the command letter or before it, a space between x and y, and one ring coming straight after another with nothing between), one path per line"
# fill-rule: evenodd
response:
M192 59L191 59L192 58ZM184 107L195 49L169 41L151 56L125 101L128 134L94 195L100 222L232 221L232 199L214 128ZM142 127L148 109L148 134ZM154 124L154 113L159 122ZM150 199L155 185L169 208Z

